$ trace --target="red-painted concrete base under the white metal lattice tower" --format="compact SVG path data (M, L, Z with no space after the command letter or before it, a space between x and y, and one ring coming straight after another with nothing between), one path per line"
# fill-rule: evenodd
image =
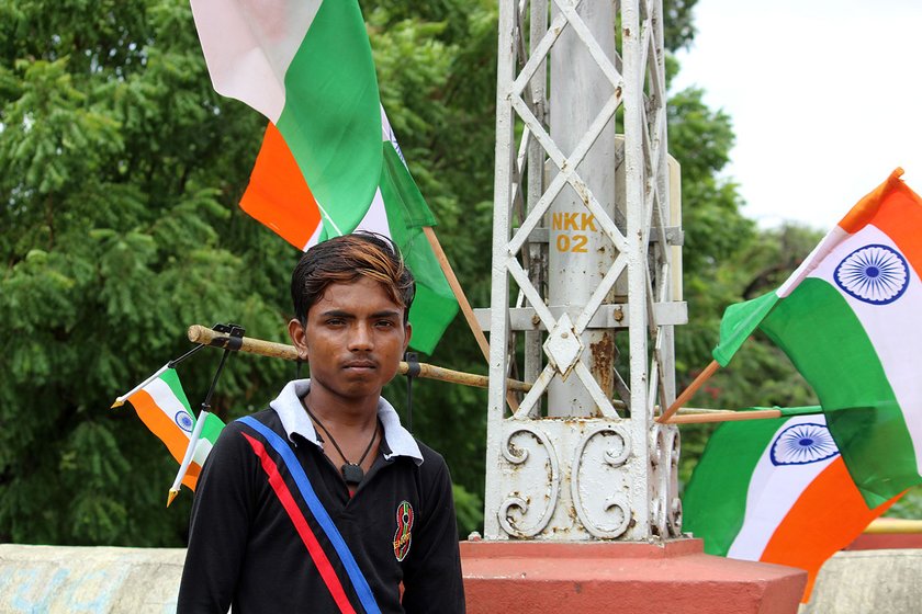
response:
M792 614L807 573L705 555L700 539L463 542L469 614Z

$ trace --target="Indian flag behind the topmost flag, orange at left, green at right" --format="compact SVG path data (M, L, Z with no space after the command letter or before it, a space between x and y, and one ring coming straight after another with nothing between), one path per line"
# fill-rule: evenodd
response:
M379 187L357 229L390 237L401 249L416 278L416 299L409 310L411 345L431 354L458 314L458 300L423 230L436 226L436 218L406 168L383 110L381 125ZM266 129L240 207L299 249L306 250L323 238L317 202L272 124Z

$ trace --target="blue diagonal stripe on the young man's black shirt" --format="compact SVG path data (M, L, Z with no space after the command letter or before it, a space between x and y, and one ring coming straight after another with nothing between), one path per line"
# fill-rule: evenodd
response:
M285 467L288 467L292 478L294 478L301 497L307 503L307 508L314 514L314 519L321 525L321 528L323 528L330 544L333 544L336 554L339 555L339 559L346 568L346 573L348 573L349 579L352 581L352 587L356 589L356 593L359 595L359 601L361 601L366 612L368 614L381 614L381 609L378 607L378 603L374 601L374 594L371 592L368 580L362 575L362 570L359 569L356 558L349 550L349 546L346 544L339 530L333 523L333 519L329 518L326 508L324 508L316 492L314 492L314 487L311 486L311 480L307 478L297 458L295 458L294 452L292 452L291 447L282 437L251 416L245 416L239 420L262 435L269 442L269 445L272 446L272 450L282 457Z

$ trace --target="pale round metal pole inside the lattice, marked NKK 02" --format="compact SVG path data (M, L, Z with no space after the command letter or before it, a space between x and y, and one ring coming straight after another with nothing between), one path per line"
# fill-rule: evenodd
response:
M551 54L551 137L563 152L575 150L583 139L593 140L582 162L574 167L608 217L612 217L615 204L615 173L611 172L615 168L615 120L614 113L608 112L617 105L618 89L621 88L621 76L612 64L612 12L610 2L551 8L552 15L563 13L571 20ZM555 87L561 82L565 87ZM609 104L606 106L606 103ZM599 116L603 107L604 115ZM605 123L599 133L587 134L591 126L598 126L601 121ZM565 185L549 212L548 278L552 283L548 288L548 303L552 307L585 308L616 258L611 241L597 229L582 196L571 185ZM570 333L575 337L575 329ZM615 357L612 334L608 330L587 330L580 336L583 360L591 364L591 371L607 396L611 396L612 390L611 377L607 376ZM600 408L589 390L577 378L566 377L569 366L559 371L562 377L548 387L548 416L597 416ZM596 371L604 372L605 377Z

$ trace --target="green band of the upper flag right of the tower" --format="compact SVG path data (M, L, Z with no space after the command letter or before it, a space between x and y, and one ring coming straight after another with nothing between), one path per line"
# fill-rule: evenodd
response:
M884 367L835 288L803 280L760 328L813 384L830 432L869 507L919 482L912 439Z

